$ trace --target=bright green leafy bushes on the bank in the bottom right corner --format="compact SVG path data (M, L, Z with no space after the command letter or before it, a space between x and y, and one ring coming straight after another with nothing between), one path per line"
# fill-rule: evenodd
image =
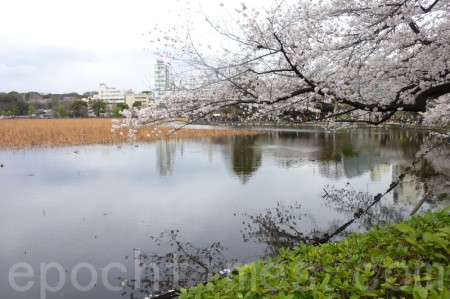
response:
M180 298L450 298L450 207L338 243L300 245Z

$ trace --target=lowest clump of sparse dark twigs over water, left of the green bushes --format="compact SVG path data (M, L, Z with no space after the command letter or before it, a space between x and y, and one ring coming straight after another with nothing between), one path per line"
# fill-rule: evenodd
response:
M172 248L160 253L147 253L139 249L127 256L135 260L137 279L119 277L124 288L122 296L130 298L146 296L163 296L173 298L176 291L211 279L224 269L234 268L236 261L226 259L224 248L220 242L206 246L197 246L182 241L179 230L162 232L159 236L151 236L156 248ZM151 298L151 297L150 297Z

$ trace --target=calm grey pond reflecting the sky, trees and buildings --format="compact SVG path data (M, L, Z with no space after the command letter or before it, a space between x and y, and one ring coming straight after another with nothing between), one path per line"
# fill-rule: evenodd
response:
M1 150L1 297L144 298L317 240L429 142L425 130L311 128ZM409 217L424 197L420 211L447 205L449 150L428 154L346 232Z

